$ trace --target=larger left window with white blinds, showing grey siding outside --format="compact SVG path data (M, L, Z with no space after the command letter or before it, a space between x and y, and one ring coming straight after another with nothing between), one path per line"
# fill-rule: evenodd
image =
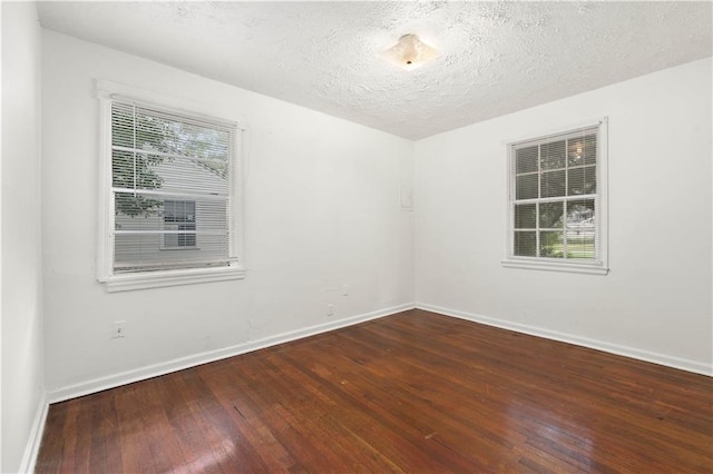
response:
M102 107L99 279L123 290L243 277L237 125L117 95Z

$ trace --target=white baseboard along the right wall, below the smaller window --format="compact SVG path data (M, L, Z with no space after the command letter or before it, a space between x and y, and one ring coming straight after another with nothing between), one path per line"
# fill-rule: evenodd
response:
M516 333L528 334L530 336L545 337L547 339L559 340L563 343L574 344L577 346L589 347L592 349L603 350L611 354L631 357L639 361L651 362L667 367L678 368L682 371L693 372L713 376L713 367L697 361L674 357L666 354L642 350L634 347L621 346L618 344L606 343L603 340L590 339L587 337L575 336L573 334L559 333L549 329L543 329L536 326L529 326L519 323L497 319L473 313L461 312L458 309L445 308L441 306L429 305L427 303L417 303L416 307L428 312L439 313L446 316L457 317L460 319L480 323L488 326L499 327L502 329L515 330Z

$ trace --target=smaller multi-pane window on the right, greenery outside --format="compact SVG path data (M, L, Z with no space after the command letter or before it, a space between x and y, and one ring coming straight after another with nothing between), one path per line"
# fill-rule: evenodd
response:
M606 274L606 119L508 146L509 267Z

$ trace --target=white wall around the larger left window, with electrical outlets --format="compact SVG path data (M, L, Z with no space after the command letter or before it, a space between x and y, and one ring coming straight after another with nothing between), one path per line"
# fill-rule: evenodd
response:
M413 214L399 206L399 186L412 186L411 141L52 31L42 34L50 392L412 304ZM245 280L114 294L96 282L95 78L247 121ZM342 296L343 284L349 296ZM109 337L114 320L126 320L125 338Z

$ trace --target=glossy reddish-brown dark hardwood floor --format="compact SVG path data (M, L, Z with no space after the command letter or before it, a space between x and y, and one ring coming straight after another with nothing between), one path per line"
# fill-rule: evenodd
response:
M37 472L713 472L713 378L422 310L50 406Z

